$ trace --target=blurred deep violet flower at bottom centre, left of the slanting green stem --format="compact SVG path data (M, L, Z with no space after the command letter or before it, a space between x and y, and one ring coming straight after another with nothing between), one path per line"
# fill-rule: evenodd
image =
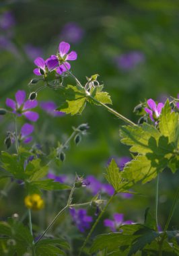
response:
M90 223L93 219L92 216L87 216L85 209L75 210L75 208L70 208L69 212L75 226L77 226L80 232L85 232L85 229L90 228Z

